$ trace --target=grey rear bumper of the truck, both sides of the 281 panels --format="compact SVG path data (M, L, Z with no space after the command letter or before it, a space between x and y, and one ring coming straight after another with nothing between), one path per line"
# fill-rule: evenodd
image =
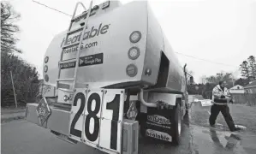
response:
M51 131L69 136L69 110L56 109L50 106L51 115L44 125L41 126L38 118L37 107L39 104L27 104L26 120L51 129ZM122 126L122 153L138 154L139 122L123 120Z

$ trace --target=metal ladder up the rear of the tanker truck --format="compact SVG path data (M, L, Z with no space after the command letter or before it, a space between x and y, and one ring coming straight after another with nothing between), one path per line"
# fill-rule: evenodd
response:
M77 79L77 71L78 71L78 68L79 68L80 50L81 50L80 47L81 47L81 44L82 44L82 41L83 41L84 33L86 32L86 27L87 27L87 23L88 23L88 20L89 20L89 16L91 14L92 2L93 2L93 0L90 3L88 11L86 10L86 7L84 6L83 3L78 2L75 5L74 13L72 15L72 19L71 19L71 22L70 22L69 27L68 27L68 33L66 34L65 42L68 40L68 35L70 35L72 33L75 33L77 31L80 31L82 29L81 38L80 38L79 43L63 45L63 47L62 47L63 48L62 54L61 54L61 57L60 57L60 61L58 62L59 69L58 69L58 77L57 77L57 89L58 89L58 85L59 85L60 81L73 81L72 89L71 90L65 90L65 91L67 91L67 92L74 92L74 88L75 88L75 84L76 84L76 79ZM79 5L81 5L83 7L83 9L85 9L83 14L86 13L86 21L85 21L84 26L81 26L79 28L71 30L71 27L72 27L72 25L73 25L73 23L75 21L74 19L75 19L76 10L77 10ZM74 62L74 58L63 61L63 52L68 47L75 46L75 45L78 45L78 50L77 50L76 56L75 56L74 77L73 78L60 79L60 76L61 76L61 64L65 63L65 62Z

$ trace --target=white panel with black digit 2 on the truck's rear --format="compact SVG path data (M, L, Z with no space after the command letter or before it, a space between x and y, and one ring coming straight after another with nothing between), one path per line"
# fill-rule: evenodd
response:
M84 109L86 103L85 89L77 89L74 93L73 104L71 107L69 133L72 139L80 141L83 132Z

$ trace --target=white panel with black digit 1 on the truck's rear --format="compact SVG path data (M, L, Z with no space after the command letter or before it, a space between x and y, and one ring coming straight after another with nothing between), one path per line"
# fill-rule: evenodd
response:
M105 90L102 105L99 146L110 151L122 150L124 90Z

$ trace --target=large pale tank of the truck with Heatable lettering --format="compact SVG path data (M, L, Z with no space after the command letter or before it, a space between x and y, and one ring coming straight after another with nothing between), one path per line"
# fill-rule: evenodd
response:
M95 14L90 16L83 37L78 31L66 39L65 31L51 41L45 53L45 58L48 57L44 62L45 84L57 86L59 68L60 79L74 77L78 50L75 44L83 38L77 85L116 88L146 85L152 87L152 90L182 92L185 87L182 67L148 3L135 1L119 6L116 1L110 1L108 8L102 7L99 5L98 10L93 10ZM80 27L84 21L84 18L75 21L72 29ZM68 47L63 50L63 46ZM62 51L63 58L59 65ZM164 56L168 58L168 65L164 63ZM160 66L167 72L159 74ZM165 79L162 81L164 84L154 87L159 85L160 75ZM64 83L72 85L72 82Z

